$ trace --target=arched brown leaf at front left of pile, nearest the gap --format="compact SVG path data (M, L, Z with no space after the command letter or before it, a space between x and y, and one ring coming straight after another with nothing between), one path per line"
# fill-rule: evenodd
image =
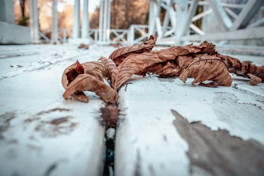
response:
M93 75L79 74L67 87L63 94L65 100L75 92L91 91L96 93L105 102L117 103L118 93L105 82Z

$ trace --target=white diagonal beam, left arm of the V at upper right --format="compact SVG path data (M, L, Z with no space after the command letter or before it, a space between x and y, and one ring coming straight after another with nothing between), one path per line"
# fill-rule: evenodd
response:
M208 0L210 3L212 9L214 10L214 13L216 15L216 18L220 24L222 24L226 30L232 27L233 23L226 14L225 10L223 9L221 5L220 0Z

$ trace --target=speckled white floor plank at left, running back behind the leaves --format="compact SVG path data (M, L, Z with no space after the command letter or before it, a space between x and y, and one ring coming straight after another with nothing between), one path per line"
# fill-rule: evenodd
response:
M34 46L37 48L36 52ZM41 46L45 46L43 53L41 53ZM6 46L6 48L9 47L14 48L14 46ZM36 54L0 59L2 67L2 70L0 71L0 79L23 74L24 72L36 70L70 58L77 60L83 55L86 57L84 62L91 59L97 60L104 52L110 55L114 50L114 47L100 48L97 45L91 45L89 50L77 49L76 45L28 45L28 47L32 49L32 53ZM19 53L19 51L17 53ZM12 50L10 52L12 53ZM8 53L6 54L8 55Z

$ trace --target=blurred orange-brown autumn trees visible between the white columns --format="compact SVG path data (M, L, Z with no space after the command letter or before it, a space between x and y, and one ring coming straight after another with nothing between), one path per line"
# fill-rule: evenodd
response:
M71 29L73 24L73 6L66 0L59 0L58 27ZM113 0L111 4L111 28L128 29L131 24L148 23L149 0ZM39 26L41 31L51 28L52 0L38 0ZM82 9L82 8L80 8ZM99 28L99 7L90 12L90 28ZM29 0L14 0L16 24L29 26ZM80 19L82 16L80 16Z

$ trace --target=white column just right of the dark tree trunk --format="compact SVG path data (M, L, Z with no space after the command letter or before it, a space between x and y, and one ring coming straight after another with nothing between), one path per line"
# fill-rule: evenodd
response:
M31 42L39 43L39 16L37 0L30 0L30 32Z

